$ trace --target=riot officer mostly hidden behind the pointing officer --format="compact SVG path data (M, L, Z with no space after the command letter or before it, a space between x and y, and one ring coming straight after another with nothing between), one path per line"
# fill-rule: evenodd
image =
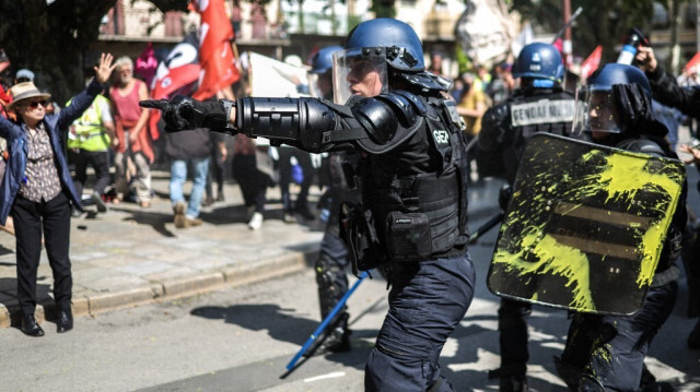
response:
M332 99L332 54L341 51L340 46L329 46L319 49L312 58L310 85L312 95L324 99ZM359 155L353 151L331 152L323 158L319 175L325 177L326 192L319 204L328 211L326 231L320 241L318 259L314 265L316 283L318 285L318 304L320 317L325 319L336 304L348 292L348 248L342 242L339 233L339 212L342 202L358 203L360 194L357 187L350 187L351 180L345 177L342 165L357 167ZM350 181L350 183L349 183ZM349 314L347 307L339 312L330 323L325 336L319 337L319 346L310 349L311 354L340 353L350 349Z

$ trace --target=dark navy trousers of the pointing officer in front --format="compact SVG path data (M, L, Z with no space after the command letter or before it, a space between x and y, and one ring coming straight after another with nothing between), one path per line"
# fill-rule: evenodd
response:
M364 390L454 391L438 358L474 298L471 259L467 253L395 265L389 310L365 366Z

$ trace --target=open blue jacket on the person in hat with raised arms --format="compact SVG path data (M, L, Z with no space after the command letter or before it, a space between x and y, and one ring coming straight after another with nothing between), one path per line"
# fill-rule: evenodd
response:
M73 98L70 106L62 109L58 115L46 115L43 120L51 140L61 186L63 190L68 189L70 199L78 209L81 209L81 198L75 193L75 188L73 188L73 180L70 177L68 162L63 153L63 140L66 139L68 127L90 107L102 88L102 84L93 80L82 93ZM0 225L4 225L14 204L14 199L20 191L22 178L24 178L28 149L26 126L12 122L0 116L0 138L8 141L8 150L10 152L4 177L2 178L2 183L0 183Z

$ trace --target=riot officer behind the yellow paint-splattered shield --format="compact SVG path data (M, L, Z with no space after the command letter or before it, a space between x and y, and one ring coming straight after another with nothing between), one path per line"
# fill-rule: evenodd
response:
M608 63L580 90L574 132L591 133L595 143L652 156L677 158L663 139L667 129L654 119L651 86L638 68ZM679 270L675 262L686 224L684 186L666 235L654 278L640 310L631 316L576 313L557 370L580 391L635 391L653 337L674 308Z

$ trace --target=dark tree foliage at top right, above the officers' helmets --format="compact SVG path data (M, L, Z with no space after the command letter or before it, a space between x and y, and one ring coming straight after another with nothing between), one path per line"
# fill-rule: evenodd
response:
M574 55L585 58L602 45L603 62L615 61L616 46L625 40L630 27L649 32L653 3L653 0L571 0L572 13L583 8L571 29ZM564 24L561 0L512 0L510 8L549 32L559 32Z

